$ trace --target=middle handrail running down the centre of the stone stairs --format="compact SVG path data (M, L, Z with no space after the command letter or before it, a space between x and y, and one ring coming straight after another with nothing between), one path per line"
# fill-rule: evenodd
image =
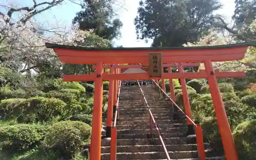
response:
M138 82L138 80L137 80L137 83L138 83L138 85L139 85L139 87L140 87L140 83ZM148 104L147 104L146 98L145 98L145 96L144 96L144 93L143 93L141 87L140 87L140 91L141 91L142 96L143 96L143 98L144 98L144 101L145 101L145 103L146 103L147 110L148 110L148 112L150 112L150 120L153 121L153 123L154 123L154 125L155 125L155 127L156 127L156 130L157 130L159 139L160 139L160 141L161 141L161 144L162 144L162 146L163 146L164 152L165 152L165 154L166 154L166 158L167 158L167 160L170 160L170 157L169 157L168 151L167 151L167 149L166 149L166 146L165 146L165 144L164 144L164 142L163 142L161 133L160 133L158 127L157 127L157 123L156 123L156 121L155 121L155 119L154 119L154 117L153 117L153 114L152 114L151 110L150 110L150 106L148 106ZM151 122L151 123L152 123L152 122ZM151 124L151 125L152 125L152 124ZM152 131L152 126L151 126L151 131ZM112 159L111 159L111 160L112 160Z

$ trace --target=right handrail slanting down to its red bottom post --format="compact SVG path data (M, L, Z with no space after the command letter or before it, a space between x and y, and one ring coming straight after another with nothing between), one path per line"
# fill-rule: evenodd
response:
M195 126L195 130L196 130L196 137L197 137L197 149L198 149L198 156L200 158L200 160L205 160L205 150L204 150L204 140L203 140L203 131L202 131L202 126L201 125L197 125L191 118L189 118L183 111L181 108L179 108L179 106L174 102L174 100L172 98L170 98L165 92L164 90L154 81L152 80L158 87L159 89L163 92L163 94L165 94L166 97L168 97L170 99L170 101L186 116L186 118Z

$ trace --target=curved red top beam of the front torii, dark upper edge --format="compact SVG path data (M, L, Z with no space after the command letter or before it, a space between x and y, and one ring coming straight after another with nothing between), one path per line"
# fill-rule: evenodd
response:
M255 41L202 47L92 48L46 43L53 48L62 63L127 64L148 63L148 54L161 52L162 63L211 62L241 60L248 46Z

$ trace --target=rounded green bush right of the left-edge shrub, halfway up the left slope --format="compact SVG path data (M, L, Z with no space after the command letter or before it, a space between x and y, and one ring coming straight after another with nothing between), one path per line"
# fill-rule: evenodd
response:
M56 98L29 98L19 103L19 107L24 111L18 120L23 122L49 121L62 115L66 105L65 102Z

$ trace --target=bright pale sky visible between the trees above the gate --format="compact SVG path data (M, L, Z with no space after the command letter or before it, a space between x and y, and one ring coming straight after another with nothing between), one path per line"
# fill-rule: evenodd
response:
M9 0L9 2L19 3L21 0ZM32 0L22 0L22 5L32 5ZM42 0L39 0L42 1ZM147 47L151 45L151 41L145 43L143 40L136 39L134 18L137 15L137 8L139 7L139 0L118 0L118 5L123 6L124 8L114 6L115 10L119 14L119 18L123 22L123 27L121 29L122 37L118 40L115 40L116 45L123 45L123 47ZM234 0L221 0L223 9L218 11L219 14L225 15L227 18L230 18L234 10ZM1 4L1 3L0 3ZM38 16L35 19L39 22L50 22L56 23L56 20L59 21L59 24L71 24L72 19L74 18L76 12L80 11L81 8L78 5L75 5L69 1L62 6L54 7L51 10L48 10Z

